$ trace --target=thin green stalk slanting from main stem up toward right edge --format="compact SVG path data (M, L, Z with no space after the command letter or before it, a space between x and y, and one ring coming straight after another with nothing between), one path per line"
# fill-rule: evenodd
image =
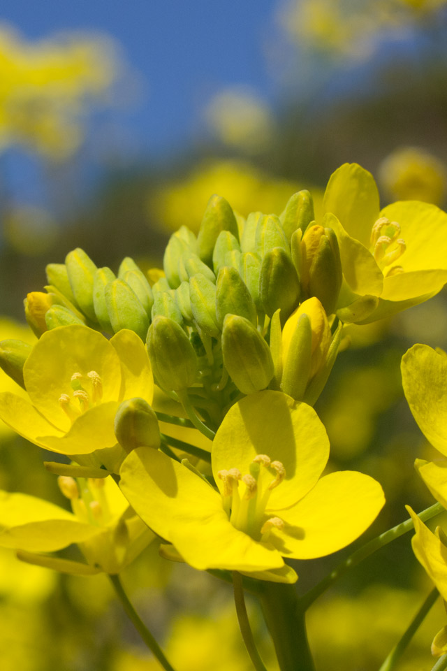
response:
M423 522L425 522L427 519L431 519L432 517L435 517L444 511L445 508L443 505L441 505L441 503L434 503L434 505L431 505L429 508L426 508L420 512L418 517ZM328 587L330 587L336 580L342 577L342 575L344 575L347 570L353 568L353 566L356 566L358 563L369 557L370 554L373 554L373 552L376 550L381 549L381 547L388 545L388 543L391 541L396 540L396 538L404 535L404 533L407 531L411 531L412 528L413 520L411 518L406 519L404 522L397 524L397 526L393 526L393 528L388 529L388 531L381 533L381 535L376 536L376 538L373 538L362 547L359 547L358 550L349 555L348 558L344 559L342 563L340 563L333 571L324 577L321 582L316 584L307 592L307 594L302 596L300 599L300 607L302 607L303 610L307 610L307 608L309 608L309 606L314 603L318 596L323 594L323 592L328 589Z

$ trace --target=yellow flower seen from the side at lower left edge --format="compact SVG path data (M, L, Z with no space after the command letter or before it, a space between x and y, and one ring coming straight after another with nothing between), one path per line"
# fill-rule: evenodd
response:
M0 546L62 572L118 573L154 539L111 477L59 477L73 512L22 493L0 491ZM47 554L77 543L87 563Z

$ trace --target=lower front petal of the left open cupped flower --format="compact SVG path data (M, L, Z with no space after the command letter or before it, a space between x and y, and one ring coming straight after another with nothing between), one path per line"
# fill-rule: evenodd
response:
M65 435L38 436L38 445L61 454L90 454L113 447L117 443L113 427L118 407L117 401L96 405L77 417Z

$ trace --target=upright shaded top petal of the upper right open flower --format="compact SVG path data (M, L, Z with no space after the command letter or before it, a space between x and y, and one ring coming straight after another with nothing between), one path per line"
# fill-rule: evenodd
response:
M379 192L371 173L356 163L340 166L330 176L323 205L351 238L369 247L371 229L379 217Z

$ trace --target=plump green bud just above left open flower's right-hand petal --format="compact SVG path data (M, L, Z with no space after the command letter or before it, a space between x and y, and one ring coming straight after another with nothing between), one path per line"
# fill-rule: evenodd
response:
M124 280L113 280L106 285L104 293L114 333L121 329L131 329L145 340L149 317L129 284Z

